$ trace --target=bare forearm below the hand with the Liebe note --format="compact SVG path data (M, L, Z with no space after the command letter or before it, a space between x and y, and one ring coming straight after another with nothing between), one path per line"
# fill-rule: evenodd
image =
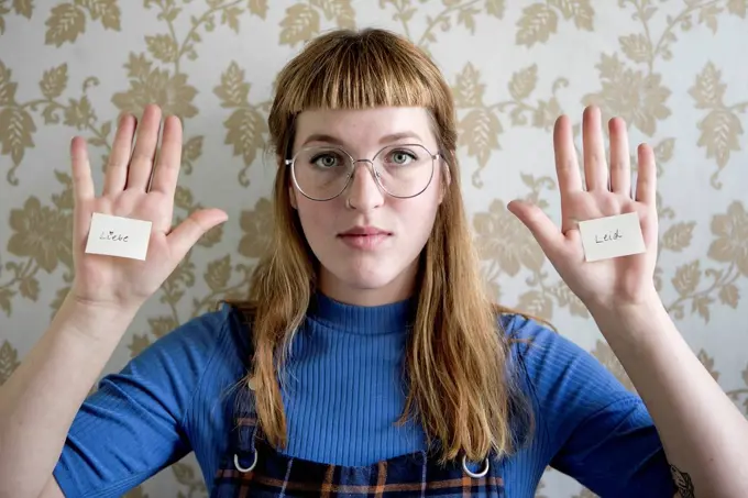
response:
M35 498L135 310L66 301L0 387L0 497Z

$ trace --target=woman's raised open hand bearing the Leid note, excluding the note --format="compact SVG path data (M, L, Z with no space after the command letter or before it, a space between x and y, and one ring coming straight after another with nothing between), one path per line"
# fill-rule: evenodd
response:
M609 170L600 110L595 107L585 109L582 137L586 185L583 186L569 118L562 115L556 122L553 146L561 191L560 228L537 206L514 200L507 207L530 230L561 278L587 307L610 308L657 297L653 284L658 242L654 154L646 144L638 147L638 176L632 198L626 123L616 118L610 120L608 129ZM646 252L585 262L578 222L629 212L639 217Z

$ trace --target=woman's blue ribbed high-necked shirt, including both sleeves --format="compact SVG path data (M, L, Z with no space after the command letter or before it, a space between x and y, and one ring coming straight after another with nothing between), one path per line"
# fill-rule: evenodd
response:
M283 401L289 456L369 465L426 447L417 421L394 422L406 391L406 300L378 307L316 295L292 346ZM596 358L520 316L502 318L536 430L512 455L505 493L532 497L551 465L602 496L672 497L644 403ZM67 498L120 497L195 452L208 491L228 451L232 389L248 372L251 331L228 306L160 337L105 376L70 428L54 477Z

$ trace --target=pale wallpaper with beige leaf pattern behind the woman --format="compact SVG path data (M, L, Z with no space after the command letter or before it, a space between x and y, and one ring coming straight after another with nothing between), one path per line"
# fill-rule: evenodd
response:
M429 51L454 89L465 196L497 299L551 319L629 386L505 206L525 197L558 215L561 112L579 123L598 103L627 120L632 146L656 146L658 289L748 411L747 14L748 0L0 0L0 384L70 283L74 134L103 165L118 114L160 103L186 129L178 218L201 206L230 213L142 310L112 372L217 298L246 291L271 223L274 76L323 30L377 25ZM190 455L129 496L199 498L206 487ZM538 496L592 495L549 471Z

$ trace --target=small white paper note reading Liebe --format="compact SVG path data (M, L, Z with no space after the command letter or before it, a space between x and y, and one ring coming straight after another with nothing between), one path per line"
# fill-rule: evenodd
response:
M151 240L151 224L150 221L95 212L86 252L145 259Z

